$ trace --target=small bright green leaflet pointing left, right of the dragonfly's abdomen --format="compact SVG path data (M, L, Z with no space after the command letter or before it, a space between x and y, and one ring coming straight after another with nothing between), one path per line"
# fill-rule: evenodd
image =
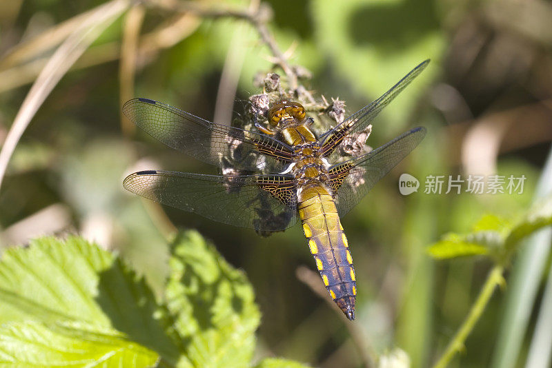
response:
M488 253L488 249L482 243L476 243L475 239L468 240L468 238L459 234L446 234L441 241L429 246L427 252L433 258L439 259Z

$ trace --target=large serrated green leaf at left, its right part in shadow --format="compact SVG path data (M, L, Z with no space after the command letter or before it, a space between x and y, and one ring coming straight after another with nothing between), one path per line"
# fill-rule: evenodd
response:
M40 238L28 248L8 249L0 262L0 300L0 324L10 323L21 334L28 329L19 324L30 321L43 326L81 323L92 334L120 331L167 362L175 363L179 356L166 323L153 317L157 305L144 280L117 257L78 237L64 242Z

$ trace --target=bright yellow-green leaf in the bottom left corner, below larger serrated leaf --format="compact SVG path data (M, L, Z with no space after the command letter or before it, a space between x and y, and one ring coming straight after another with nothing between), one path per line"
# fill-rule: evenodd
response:
M159 356L95 325L8 323L0 328L2 367L152 367Z

